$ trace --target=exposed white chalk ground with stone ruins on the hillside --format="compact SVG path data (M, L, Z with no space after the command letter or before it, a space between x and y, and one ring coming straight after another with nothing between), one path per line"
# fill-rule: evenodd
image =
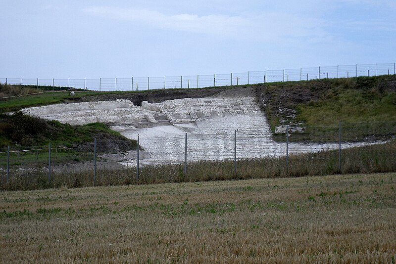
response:
M142 106L135 106L129 100L116 100L57 104L23 111L73 125L104 122L128 138L137 139L139 135L144 149L141 164L184 162L186 132L188 161L234 159L235 130L237 159L285 156L286 143L272 140L265 116L254 98L246 94L226 91L215 97L143 102ZM365 143L343 143L341 147L357 145ZM290 154L338 148L335 142L289 143ZM136 151L130 151L120 161L125 165L136 162Z

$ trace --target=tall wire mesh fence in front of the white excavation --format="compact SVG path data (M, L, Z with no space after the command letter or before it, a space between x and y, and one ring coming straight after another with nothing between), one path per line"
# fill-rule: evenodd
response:
M396 121L309 127L274 141L264 132L138 136L0 149L1 189L80 187L396 171Z

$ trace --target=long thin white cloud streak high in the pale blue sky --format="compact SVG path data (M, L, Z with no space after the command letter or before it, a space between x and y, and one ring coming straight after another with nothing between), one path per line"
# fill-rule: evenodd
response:
M328 41L323 30L324 21L301 15L265 12L251 16L175 14L167 15L155 10L94 6L85 12L115 19L150 25L154 28L203 33L229 39L254 39L276 43L295 39Z

